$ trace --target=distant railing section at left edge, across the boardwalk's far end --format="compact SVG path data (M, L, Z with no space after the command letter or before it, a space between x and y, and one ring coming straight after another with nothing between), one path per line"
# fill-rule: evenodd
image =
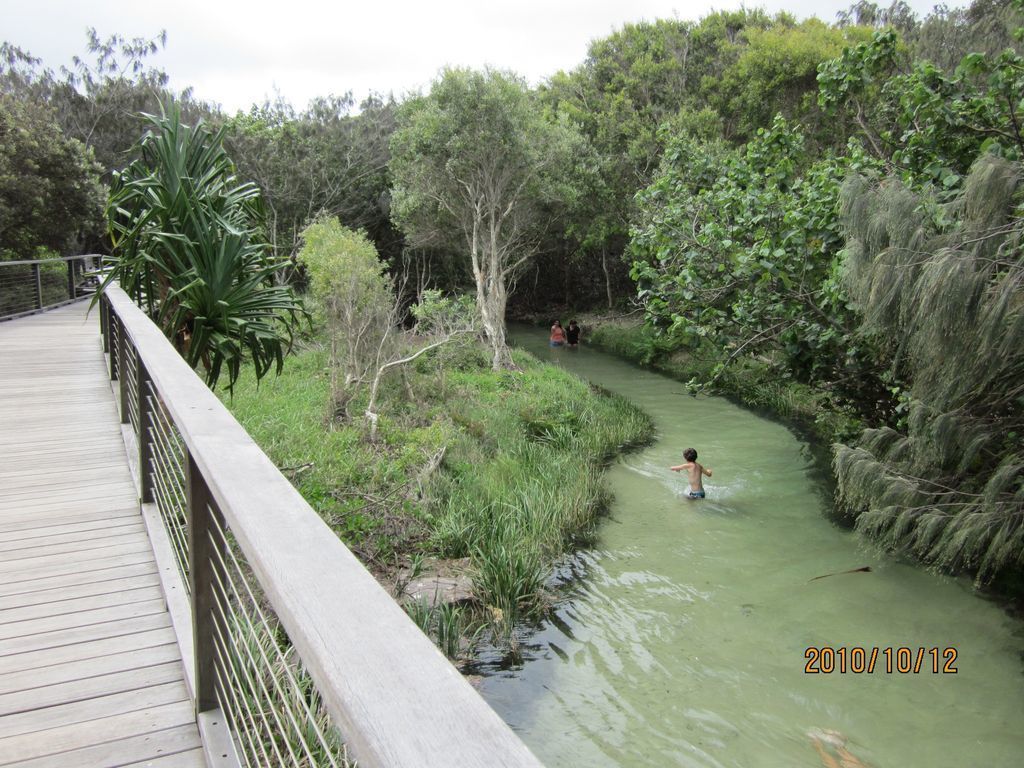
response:
M101 256L0 261L0 321L33 314L91 296Z

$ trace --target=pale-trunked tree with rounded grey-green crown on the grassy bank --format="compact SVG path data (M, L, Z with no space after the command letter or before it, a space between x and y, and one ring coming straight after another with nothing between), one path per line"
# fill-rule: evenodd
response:
M518 77L446 70L428 96L402 104L391 140L393 215L414 247L469 257L495 370L505 343L510 284L535 256L547 206L571 197L581 138L545 119Z

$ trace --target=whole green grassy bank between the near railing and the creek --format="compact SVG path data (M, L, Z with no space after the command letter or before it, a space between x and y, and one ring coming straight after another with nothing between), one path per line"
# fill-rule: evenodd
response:
M415 573L424 558L468 558L475 597L507 628L544 605L551 561L593 529L607 462L651 432L625 399L513 357L519 370L495 373L482 348L464 344L392 375L375 441L361 422L328 423L317 347L258 389L244 377L224 399L382 580ZM356 397L350 413L362 404ZM451 635L450 615L420 620Z

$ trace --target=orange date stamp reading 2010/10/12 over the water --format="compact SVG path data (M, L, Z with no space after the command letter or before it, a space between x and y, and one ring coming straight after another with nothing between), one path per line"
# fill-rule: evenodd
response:
M809 675L828 675L838 672L841 675L870 675L884 672L887 675L934 675L956 674L956 649L919 646L901 647L851 647L822 645L820 648L811 646L804 651L804 672Z

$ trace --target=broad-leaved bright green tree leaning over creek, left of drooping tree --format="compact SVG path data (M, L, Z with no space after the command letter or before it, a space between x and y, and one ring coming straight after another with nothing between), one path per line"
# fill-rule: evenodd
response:
M761 354L803 381L869 383L833 281L840 182L858 161L811 164L803 132L781 118L740 150L673 141L638 196L630 245L648 319L728 361Z

